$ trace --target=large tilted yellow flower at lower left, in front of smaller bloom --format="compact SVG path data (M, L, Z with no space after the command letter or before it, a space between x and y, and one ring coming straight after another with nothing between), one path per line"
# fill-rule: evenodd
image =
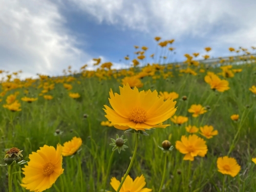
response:
M56 150L53 146L44 145L36 153L32 152L28 165L22 168L25 177L20 185L36 192L50 188L64 170L61 151L62 147L58 144Z

